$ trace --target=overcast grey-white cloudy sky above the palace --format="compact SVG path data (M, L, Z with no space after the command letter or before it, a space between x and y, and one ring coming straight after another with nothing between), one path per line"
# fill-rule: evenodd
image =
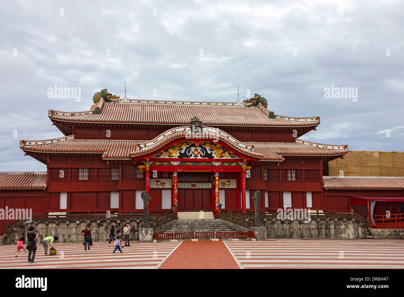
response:
M0 4L0 171L44 170L19 140L62 136L49 109L88 110L124 80L128 98L177 101L236 101L239 85L320 116L303 139L404 151L403 1L55 2ZM49 99L54 85L81 100ZM356 98L324 98L332 85Z

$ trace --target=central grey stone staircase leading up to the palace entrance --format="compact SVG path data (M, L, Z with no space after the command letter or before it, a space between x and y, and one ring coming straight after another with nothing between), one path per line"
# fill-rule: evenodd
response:
M164 233L174 232L225 232L237 231L229 227L222 219L181 219L173 221Z

